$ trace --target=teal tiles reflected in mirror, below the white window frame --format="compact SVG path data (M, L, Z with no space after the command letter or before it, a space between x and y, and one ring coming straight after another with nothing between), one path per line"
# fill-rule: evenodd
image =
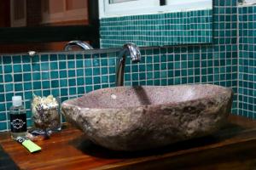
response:
M212 9L102 18L101 47L125 42L139 46L212 42Z

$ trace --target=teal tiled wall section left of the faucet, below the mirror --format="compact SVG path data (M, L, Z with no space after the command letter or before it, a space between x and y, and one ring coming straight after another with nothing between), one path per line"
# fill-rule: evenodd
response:
M32 94L77 98L115 82L114 54L26 54L0 56L0 130L9 129L13 95L21 95L31 125Z

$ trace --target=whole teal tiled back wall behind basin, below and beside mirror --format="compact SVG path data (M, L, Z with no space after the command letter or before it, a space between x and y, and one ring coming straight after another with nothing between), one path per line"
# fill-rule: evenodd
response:
M212 44L142 48L142 61L127 60L125 85L212 83L233 88L232 112L237 113L237 45L235 0L214 1ZM25 99L27 116L32 94L81 96L98 88L113 87L118 53L0 55L0 131L9 129L11 97ZM28 122L31 122L28 118Z

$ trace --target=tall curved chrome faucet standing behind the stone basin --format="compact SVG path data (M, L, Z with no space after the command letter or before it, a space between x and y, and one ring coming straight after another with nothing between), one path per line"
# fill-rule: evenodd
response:
M124 86L125 59L130 56L133 63L141 60L141 53L137 45L134 43L125 43L119 52L117 68L116 68L116 86Z

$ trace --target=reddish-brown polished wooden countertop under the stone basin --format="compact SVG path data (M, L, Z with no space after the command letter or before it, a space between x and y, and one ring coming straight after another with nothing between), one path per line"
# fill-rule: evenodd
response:
M92 144L70 125L33 154L9 136L0 133L0 144L20 169L256 169L256 123L239 116L211 136L131 153Z

